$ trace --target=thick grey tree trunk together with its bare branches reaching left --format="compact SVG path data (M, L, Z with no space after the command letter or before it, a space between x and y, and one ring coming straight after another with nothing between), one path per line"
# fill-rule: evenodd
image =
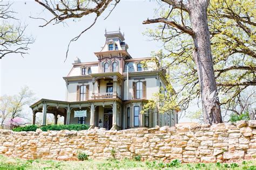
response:
M208 0L162 0L172 6L167 18L147 19L143 24L164 23L193 39L193 60L197 66L200 84L201 101L203 104L204 122L209 124L223 122L220 112L217 85L214 77L210 32L207 22ZM169 19L173 9L180 10L180 22ZM190 26L183 20L183 13L190 17Z

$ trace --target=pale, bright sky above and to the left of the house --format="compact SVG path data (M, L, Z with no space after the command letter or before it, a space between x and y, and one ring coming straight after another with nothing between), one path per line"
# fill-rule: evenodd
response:
M43 20L31 17L51 18L49 11L35 1L14 1L12 9L23 25L27 25L26 34L35 38L30 45L29 54L11 54L0 60L0 96L15 95L21 87L28 86L39 99L65 100L65 81L73 60L78 57L82 62L97 61L93 52L99 52L105 42L105 29L117 31L120 27L125 34L125 42L132 58L151 56L162 44L151 41L143 35L147 28L154 29L157 24L143 25L143 20L154 18L159 4L156 1L120 1L111 15L104 20L103 13L92 29L70 46L68 59L65 60L67 45L73 37L92 23L92 17L83 17L63 24L47 25Z

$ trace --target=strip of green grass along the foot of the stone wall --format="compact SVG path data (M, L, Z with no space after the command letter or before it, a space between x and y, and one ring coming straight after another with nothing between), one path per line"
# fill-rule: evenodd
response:
M180 164L174 160L169 164L156 161L135 160L25 160L0 155L0 169L255 169L256 161L243 161L230 164Z

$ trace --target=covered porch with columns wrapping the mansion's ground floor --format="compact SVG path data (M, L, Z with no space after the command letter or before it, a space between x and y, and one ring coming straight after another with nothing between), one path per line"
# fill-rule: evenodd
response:
M104 98L104 100L89 100L81 102L65 102L42 99L30 106L32 109L32 124L36 124L37 113L42 112L42 123L46 125L47 114L64 116L64 124L87 124L90 128L99 127L107 130L121 129L122 101L119 98ZM84 117L75 117L75 111L85 111Z

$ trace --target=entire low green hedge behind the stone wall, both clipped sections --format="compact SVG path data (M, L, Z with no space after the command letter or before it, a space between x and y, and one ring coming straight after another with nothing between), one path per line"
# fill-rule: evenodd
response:
M28 126L24 126L24 127L19 127L19 128L14 128L12 129L15 132L21 132L21 131L36 131L36 129L42 129L42 131L48 131L48 130L87 130L89 129L88 125L84 125L84 124L71 124L71 125L47 125L47 126L41 126L38 127L37 125L28 125Z

